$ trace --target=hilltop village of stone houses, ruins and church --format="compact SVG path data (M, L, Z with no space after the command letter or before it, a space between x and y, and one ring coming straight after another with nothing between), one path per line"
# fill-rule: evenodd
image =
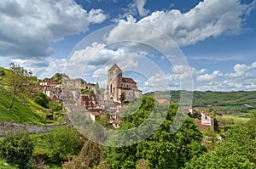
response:
M87 120L96 121L97 115L106 112L113 127L119 127L124 103L140 99L142 91L131 77L123 77L122 70L116 64L108 69L107 78L108 85L103 92L98 83L85 82L81 78L70 79L68 76L62 77L61 84L44 78L35 91L61 103L68 112L75 107L77 112L87 116Z

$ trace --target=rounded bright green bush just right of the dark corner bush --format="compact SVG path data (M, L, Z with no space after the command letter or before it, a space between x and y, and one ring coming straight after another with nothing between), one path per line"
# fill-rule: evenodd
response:
M61 161L79 149L78 132L73 127L55 127L45 137L50 161Z

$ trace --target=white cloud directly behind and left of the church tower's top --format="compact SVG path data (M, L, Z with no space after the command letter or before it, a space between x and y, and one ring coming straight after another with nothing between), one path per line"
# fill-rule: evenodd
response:
M93 70L90 76L105 77L113 63L118 63L122 70L134 69L137 66L137 59L143 54L131 53L124 48L107 48L103 43L94 42L91 46L72 54L67 62L66 73L69 76L79 76L83 71Z

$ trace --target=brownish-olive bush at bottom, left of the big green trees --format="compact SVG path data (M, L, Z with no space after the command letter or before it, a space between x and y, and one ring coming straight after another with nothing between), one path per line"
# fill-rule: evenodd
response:
M90 140L86 141L79 156L74 156L73 161L63 164L64 169L93 168L102 161L102 146Z

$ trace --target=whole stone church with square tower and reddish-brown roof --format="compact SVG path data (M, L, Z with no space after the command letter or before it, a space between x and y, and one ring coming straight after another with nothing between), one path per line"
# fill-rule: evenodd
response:
M125 101L133 102L142 97L142 91L137 89L137 82L132 78L123 77L118 65L113 64L108 70L108 85L104 92L104 100L121 103L120 95L125 94Z

